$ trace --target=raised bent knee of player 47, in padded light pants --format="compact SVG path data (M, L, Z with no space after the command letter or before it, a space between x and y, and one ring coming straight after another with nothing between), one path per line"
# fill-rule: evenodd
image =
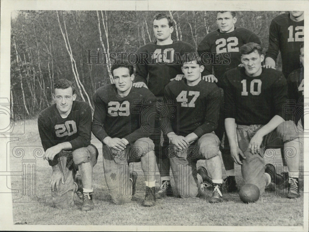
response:
M219 138L214 133L208 133L198 140L200 154L206 160L214 158L219 155Z

